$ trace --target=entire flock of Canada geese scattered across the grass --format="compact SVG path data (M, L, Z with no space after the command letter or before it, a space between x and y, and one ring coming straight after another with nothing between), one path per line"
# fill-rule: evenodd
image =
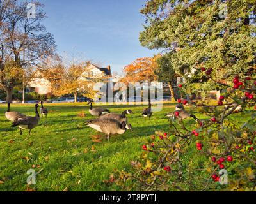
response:
M20 130L20 135L22 135L23 129L29 129L29 135L31 129L38 126L40 121L40 115L38 112L38 107L40 107L40 113L42 116L49 113L47 108L44 108L43 101L40 102L41 107L38 103L35 104L35 117L26 116L19 112L11 112L10 111L10 103L8 103L8 108L5 113L6 119L12 121L12 127L18 126ZM132 110L124 110L122 113L110 113L106 108L93 108L92 101L88 101L88 105L90 104L89 113L93 116L96 116L96 119L91 119L85 122L86 126L93 128L101 133L106 134L106 139L109 140L110 135L115 134L123 134L127 129L131 130L132 125L128 123L127 115L132 114ZM179 114L177 114L179 112ZM152 108L151 102L148 101L148 108L143 109L142 115L143 117L150 117L152 116ZM173 119L178 119L179 122L182 120L191 117L195 119L196 122L199 120L195 117L195 115L186 112L184 106L179 103L175 106L175 111L166 114L167 117L173 117Z

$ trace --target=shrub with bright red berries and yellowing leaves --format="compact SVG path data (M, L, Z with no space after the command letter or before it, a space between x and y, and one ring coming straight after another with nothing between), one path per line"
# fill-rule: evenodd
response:
M107 182L129 191L256 191L256 82L235 78L234 86L216 82L225 89L215 105L190 102L204 119L170 119L170 133L150 136L132 170L115 170Z

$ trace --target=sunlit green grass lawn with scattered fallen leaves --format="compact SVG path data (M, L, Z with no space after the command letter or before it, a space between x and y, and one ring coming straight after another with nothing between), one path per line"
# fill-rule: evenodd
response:
M111 112L131 109L128 115L133 131L111 136L95 142L99 135L83 122L94 117L88 113L85 103L45 104L49 110L47 118L41 118L39 126L20 136L17 127L11 128L4 113L6 105L0 105L0 191L25 191L26 172L35 165L36 191L112 191L104 180L114 169L129 170L130 161L140 156L141 145L157 130L168 131L168 119L164 113L174 110L174 104L164 103L161 112L154 112L150 120L141 115L147 105L105 105ZM34 105L12 105L26 115L35 115ZM85 117L79 113L86 113ZM197 116L200 116L196 114ZM193 119L186 120L187 123ZM189 162L189 161L188 161ZM186 163L184 163L186 168Z

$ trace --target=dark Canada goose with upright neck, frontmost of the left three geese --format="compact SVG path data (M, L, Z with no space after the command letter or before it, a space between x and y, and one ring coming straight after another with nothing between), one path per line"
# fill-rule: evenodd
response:
M26 117L23 117L22 119L18 119L15 122L13 122L12 127L19 126L20 135L22 135L22 129L26 129L26 128L29 129L29 135L30 135L31 129L35 128L38 125L38 122L40 120L40 116L39 116L39 113L37 110L38 106L39 105L36 103L36 105L35 105L36 116L35 117L26 116Z

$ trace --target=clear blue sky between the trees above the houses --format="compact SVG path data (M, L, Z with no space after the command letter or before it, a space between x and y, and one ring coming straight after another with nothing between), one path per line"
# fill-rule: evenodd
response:
M157 53L138 40L145 1L40 0L48 17L44 24L54 34L59 54L83 55L102 66L110 64L118 73L136 58Z

